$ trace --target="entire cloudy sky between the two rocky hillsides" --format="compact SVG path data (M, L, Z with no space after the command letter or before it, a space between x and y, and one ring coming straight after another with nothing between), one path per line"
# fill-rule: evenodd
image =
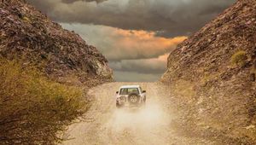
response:
M236 0L27 0L105 55L114 78L152 82L168 55Z

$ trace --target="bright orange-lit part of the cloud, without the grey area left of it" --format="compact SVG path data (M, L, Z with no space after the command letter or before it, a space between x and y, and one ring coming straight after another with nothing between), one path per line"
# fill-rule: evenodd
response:
M170 53L186 38L160 38L155 37L154 32L119 29L113 35L117 39L114 44L115 49L105 53L108 59L113 61L156 58Z

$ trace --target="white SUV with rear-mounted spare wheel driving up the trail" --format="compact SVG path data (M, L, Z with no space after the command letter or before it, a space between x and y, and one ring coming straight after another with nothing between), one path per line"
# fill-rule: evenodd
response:
M146 102L146 90L139 85L124 85L116 92L116 107L139 106Z

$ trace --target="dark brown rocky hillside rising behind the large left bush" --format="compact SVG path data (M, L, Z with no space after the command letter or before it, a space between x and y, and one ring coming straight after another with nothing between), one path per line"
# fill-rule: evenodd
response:
M52 22L25 0L0 1L0 55L36 65L59 82L112 80L106 58L78 34Z

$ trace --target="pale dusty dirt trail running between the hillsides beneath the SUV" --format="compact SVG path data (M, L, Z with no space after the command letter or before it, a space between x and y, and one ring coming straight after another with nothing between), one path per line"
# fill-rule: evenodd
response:
M162 84L133 83L147 90L146 106L117 109L114 93L123 84L127 83L102 84L91 89L89 95L96 97L96 102L85 114L85 122L70 126L67 135L73 139L63 144L213 144L200 138L180 136L172 129L175 113Z

